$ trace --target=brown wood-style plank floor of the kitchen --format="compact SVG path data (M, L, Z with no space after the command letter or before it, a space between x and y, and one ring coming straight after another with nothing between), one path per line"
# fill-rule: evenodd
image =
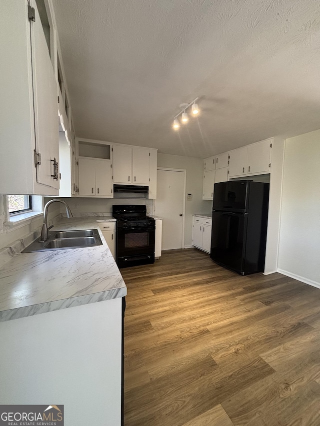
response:
M320 290L196 249L121 269L125 426L320 425Z

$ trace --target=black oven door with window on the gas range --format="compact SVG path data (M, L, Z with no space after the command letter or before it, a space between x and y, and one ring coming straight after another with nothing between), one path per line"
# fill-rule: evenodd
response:
M119 268L154 263L155 226L116 231L116 263Z

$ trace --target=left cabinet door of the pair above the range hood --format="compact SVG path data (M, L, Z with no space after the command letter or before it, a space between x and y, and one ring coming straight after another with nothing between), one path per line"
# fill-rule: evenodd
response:
M130 183L132 181L132 148L113 145L113 182Z

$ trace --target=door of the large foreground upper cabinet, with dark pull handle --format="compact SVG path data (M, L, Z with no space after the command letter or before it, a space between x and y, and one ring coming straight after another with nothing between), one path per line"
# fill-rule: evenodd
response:
M41 154L41 164L36 166L36 180L58 189L58 166L54 167L54 159L59 161L58 89L36 7L35 21L30 27L35 149ZM54 174L55 178L52 177Z

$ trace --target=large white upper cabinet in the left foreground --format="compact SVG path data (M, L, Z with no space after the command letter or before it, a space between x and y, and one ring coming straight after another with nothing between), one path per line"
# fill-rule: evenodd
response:
M57 83L35 1L29 3L6 1L0 13L0 193L57 195Z

